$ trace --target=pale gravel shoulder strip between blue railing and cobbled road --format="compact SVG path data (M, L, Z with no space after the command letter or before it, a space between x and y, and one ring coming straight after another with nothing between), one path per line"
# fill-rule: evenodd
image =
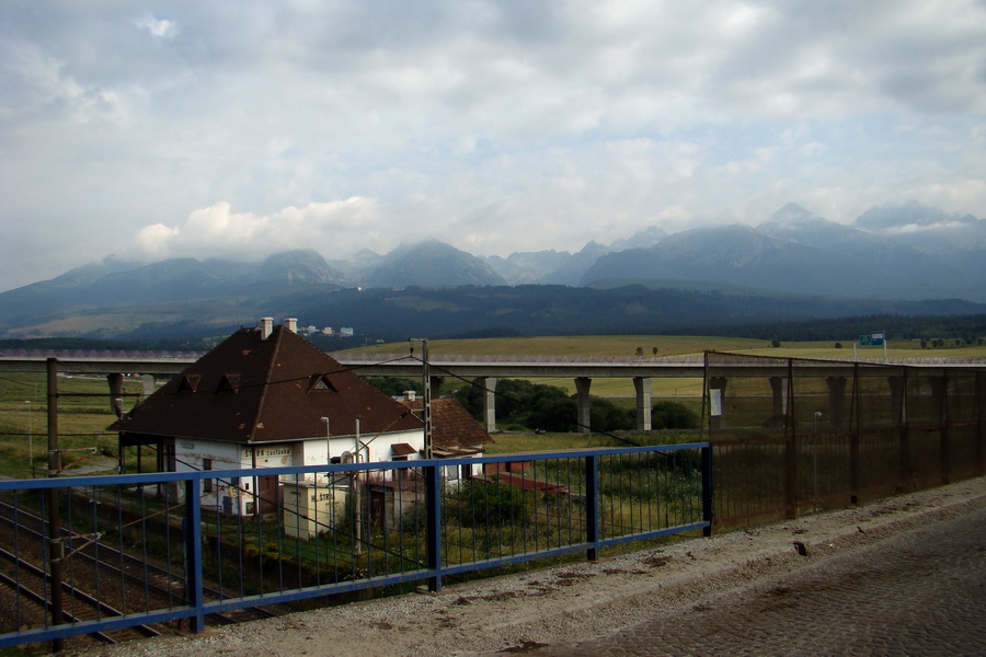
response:
M554 568L440 593L355 602L67 655L492 655L572 644L691 609L757 580L818 564L986 506L986 477L860 507Z

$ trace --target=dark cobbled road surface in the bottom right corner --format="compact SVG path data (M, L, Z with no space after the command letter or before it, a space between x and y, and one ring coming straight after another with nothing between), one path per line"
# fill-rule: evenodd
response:
M986 655L986 508L537 657Z

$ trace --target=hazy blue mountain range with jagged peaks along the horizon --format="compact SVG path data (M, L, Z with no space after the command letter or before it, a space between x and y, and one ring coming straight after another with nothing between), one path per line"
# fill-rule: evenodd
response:
M609 245L589 242L576 253L478 257L431 240L386 255L363 251L328 261L314 250L278 253L261 263L172 258L139 264L108 256L0 293L0 335L110 337L153 326L219 328L252 323L260 313L300 316L302 307L321 315L317 309L326 295L357 289L432 290L391 295L404 299L398 307L406 312L421 312L443 307L440 290L462 286L473 288L473 295L482 288L536 285L905 304L955 299L964 303L954 308L982 312L983 280L984 219L909 201L872 208L847 226L789 204L756 227L673 234L652 227ZM366 313L347 312L368 321ZM356 322L355 316L330 316L326 323Z

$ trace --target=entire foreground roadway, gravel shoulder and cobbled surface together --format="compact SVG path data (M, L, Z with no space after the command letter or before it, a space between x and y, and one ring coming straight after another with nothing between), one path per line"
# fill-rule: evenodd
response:
M978 528L977 533L963 531L973 526ZM947 531L953 537L952 543L942 541L930 556L919 554L915 545L921 535L922 544L927 544L929 535L944 535ZM949 622L954 613L965 613L963 622L984 627L984 541L986 477L979 477L711 539L683 540L596 563L446 586L438 595L411 593L209 630L200 635L164 636L66 654L901 654L902 645L918 644L902 644L904 638L895 644L899 632L891 631L890 638L880 638L868 627L880 623L892 627L888 623L893 622L908 626L932 623L936 616L925 614L920 604L942 598L942 581L947 590L952 587L955 599L965 601L948 612ZM892 554L903 554L905 561L894 566ZM931 579L922 579L927 573L919 567L928 558L948 562L936 575L933 586ZM873 575L872 567L865 565L874 560L886 562L884 575ZM979 574L966 575L970 567ZM912 579L902 585L904 592L897 590L902 587L888 592L886 586L905 572ZM834 589L844 590L853 608L870 599L896 597L887 609L848 616L857 619L855 636L863 642L853 646L841 629L835 631L823 618L826 606L845 604L840 598L825 598L826 591ZM899 612L894 618L887 615L891 607ZM832 634L833 645L839 648L823 649L818 643L822 638L806 634L805 626L811 624L818 636ZM704 634L699 634L703 630ZM956 633L960 643L941 643L941 636ZM970 634L952 624L937 634L926 634L927 644L920 645L930 647L914 654L986 653L982 630ZM688 644L691 635L706 638ZM664 642L660 649L656 642Z

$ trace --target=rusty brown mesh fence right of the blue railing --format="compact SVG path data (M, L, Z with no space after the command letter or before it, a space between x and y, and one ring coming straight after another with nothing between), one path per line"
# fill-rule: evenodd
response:
M704 381L718 526L983 473L986 368L710 351Z

